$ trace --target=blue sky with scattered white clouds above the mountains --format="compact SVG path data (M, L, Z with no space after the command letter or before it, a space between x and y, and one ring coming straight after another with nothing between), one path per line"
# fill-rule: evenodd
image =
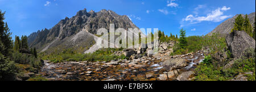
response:
M158 28L168 36L181 28L187 36L202 36L236 14L255 12L255 0L0 0L13 38L50 29L84 8L112 10L139 28Z

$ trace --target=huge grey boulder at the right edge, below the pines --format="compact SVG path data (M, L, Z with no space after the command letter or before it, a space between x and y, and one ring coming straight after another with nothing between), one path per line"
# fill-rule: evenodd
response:
M245 31L234 30L226 37L229 49L234 58L241 58L243 52L248 48L255 49L255 40Z

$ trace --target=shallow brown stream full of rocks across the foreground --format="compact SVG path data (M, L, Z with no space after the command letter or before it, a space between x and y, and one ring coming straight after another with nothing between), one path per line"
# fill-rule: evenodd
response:
M185 55L156 54L131 60L110 62L49 63L39 73L48 80L68 81L186 81L193 78L193 69L204 59L204 52Z

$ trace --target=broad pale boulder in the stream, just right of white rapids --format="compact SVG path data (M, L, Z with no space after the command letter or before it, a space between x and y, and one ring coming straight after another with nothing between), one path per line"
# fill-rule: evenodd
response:
M167 70L180 69L187 66L187 62L185 59L181 58L172 58L167 59L163 62L163 66Z

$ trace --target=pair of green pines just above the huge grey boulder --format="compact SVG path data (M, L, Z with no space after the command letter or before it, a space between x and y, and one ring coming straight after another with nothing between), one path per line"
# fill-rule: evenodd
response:
M245 19L241 14L237 16L235 19L234 28L231 30L231 32L234 30L244 30L251 37L255 35L253 34L253 27L251 27L251 23L247 14L245 15Z

